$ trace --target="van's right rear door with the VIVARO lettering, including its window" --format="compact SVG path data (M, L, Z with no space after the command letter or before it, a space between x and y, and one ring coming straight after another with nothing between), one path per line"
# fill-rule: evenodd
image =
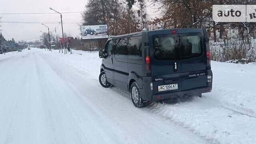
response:
M204 33L202 29L192 31L179 32L182 90L207 86Z

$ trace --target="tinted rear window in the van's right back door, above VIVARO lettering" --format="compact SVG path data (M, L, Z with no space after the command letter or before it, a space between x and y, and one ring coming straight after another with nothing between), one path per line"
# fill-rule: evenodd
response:
M202 55L202 40L200 36L183 36L180 44L182 60Z

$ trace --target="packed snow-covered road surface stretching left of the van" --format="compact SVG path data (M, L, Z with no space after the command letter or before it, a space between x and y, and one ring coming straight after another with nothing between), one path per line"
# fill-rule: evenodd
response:
M125 93L102 88L47 51L1 56L0 82L0 144L209 142L147 108L135 108Z

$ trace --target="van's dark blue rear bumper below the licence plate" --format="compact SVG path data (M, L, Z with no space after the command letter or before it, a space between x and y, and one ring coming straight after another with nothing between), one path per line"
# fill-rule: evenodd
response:
M176 98L176 97L181 97L184 95L187 96L193 96L193 95L199 95L202 93L210 92L212 90L211 87L202 87L202 88L195 88L191 90L183 90L180 92L167 92L167 93L162 93L162 94L153 94L152 95L152 100L164 100L168 98ZM161 96L161 98L160 98Z

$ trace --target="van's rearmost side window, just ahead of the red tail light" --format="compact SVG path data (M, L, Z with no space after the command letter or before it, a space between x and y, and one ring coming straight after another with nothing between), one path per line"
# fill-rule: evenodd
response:
M141 36L134 36L128 38L127 51L129 56L133 56L134 58L142 57Z

